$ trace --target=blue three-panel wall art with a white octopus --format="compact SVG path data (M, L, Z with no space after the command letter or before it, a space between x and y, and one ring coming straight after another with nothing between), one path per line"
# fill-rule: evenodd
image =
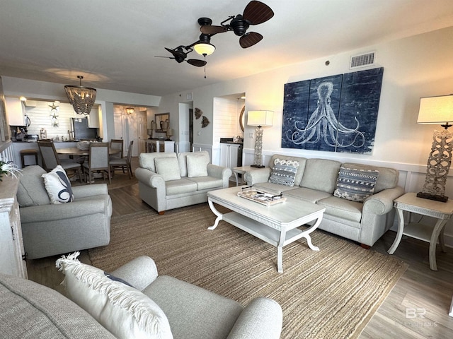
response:
M285 84L282 148L372 153L383 68Z

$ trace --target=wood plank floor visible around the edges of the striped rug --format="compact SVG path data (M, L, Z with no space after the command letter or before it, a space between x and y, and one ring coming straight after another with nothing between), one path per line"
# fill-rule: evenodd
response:
M132 162L133 169L134 166L137 166L137 159ZM131 179L129 183L120 184L119 188L113 188L114 185L109 187L113 216L150 209L139 198L137 180ZM386 251L395 235L395 232L387 232L371 250L388 255ZM416 239L403 238L394 257L408 263L408 270L362 331L360 339L453 338L453 318L448 316L453 295L453 249L447 248L447 253L437 249L438 270L432 271L428 245ZM63 276L55 268L57 258L28 261L28 278L62 292L59 283ZM80 259L90 263L86 251L82 251ZM336 338L335 333L331 338Z

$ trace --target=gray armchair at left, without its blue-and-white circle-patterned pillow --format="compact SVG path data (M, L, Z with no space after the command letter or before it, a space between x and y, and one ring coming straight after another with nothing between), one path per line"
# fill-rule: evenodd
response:
M112 201L106 184L74 186L74 201L50 203L39 166L23 169L17 200L27 258L42 258L110 242Z

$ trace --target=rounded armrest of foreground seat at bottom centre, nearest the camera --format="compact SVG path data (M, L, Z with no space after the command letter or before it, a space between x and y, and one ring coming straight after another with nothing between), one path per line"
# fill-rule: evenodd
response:
M282 307L273 299L257 297L243 309L227 339L278 339L282 322Z

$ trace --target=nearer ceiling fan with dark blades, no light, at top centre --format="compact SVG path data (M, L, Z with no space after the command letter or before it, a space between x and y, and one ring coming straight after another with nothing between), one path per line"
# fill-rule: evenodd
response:
M223 32L233 31L238 35L239 44L242 48L248 48L260 42L263 35L257 32L247 32L250 25L259 25L265 23L267 20L274 16L273 10L266 4L260 1L250 1L246 8L243 10L242 15L229 16L226 20L222 21L219 26L205 24L201 25L200 31L203 34L214 35ZM211 21L209 18L200 18L200 20ZM229 23L227 23L229 21ZM211 21L212 22L212 21Z

